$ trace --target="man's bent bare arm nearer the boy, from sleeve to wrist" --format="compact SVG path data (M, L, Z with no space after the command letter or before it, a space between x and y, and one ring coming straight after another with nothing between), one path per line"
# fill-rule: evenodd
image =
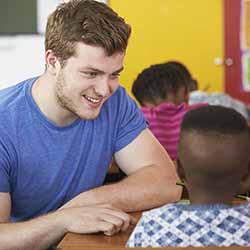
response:
M129 176L121 182L83 192L64 207L109 203L123 211L145 210L180 199L173 162L148 129L115 154Z

